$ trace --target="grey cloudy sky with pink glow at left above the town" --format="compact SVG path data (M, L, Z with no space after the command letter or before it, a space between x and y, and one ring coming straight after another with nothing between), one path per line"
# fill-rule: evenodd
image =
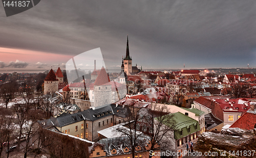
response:
M41 0L9 17L0 5L0 68L65 66L98 47L117 67L127 35L143 69L256 67L255 26L254 0Z

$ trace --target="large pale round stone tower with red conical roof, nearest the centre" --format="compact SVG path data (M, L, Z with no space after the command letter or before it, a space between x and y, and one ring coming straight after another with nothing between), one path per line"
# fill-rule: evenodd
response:
M112 99L112 89L110 78L102 66L99 75L94 82L94 106L99 107L110 104Z

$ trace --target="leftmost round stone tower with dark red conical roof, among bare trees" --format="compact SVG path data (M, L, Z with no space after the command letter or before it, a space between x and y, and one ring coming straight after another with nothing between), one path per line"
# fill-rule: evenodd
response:
M48 92L53 93L58 91L58 79L56 78L56 75L54 71L51 69L50 72L47 74L45 78L45 85L44 85L44 94L47 94Z

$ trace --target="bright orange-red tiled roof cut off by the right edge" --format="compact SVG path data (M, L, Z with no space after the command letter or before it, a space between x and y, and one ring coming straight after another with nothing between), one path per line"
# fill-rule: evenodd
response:
M256 124L256 112L246 112L236 122L234 122L229 128L242 128L242 129L253 129Z

